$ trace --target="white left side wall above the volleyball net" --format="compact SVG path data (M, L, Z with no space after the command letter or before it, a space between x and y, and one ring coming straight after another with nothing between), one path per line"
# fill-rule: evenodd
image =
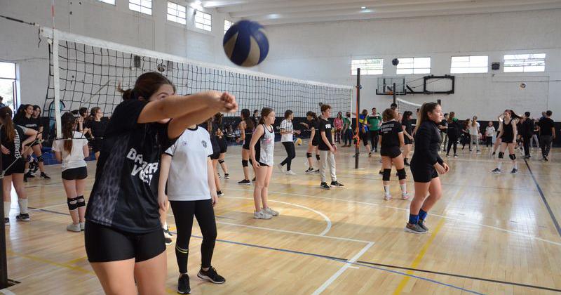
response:
M185 5L187 1L177 0ZM2 15L52 27L51 1L0 0ZM55 27L62 31L180 55L210 63L231 65L222 51L224 17L214 10L212 32L194 27L194 10L187 7L187 26L166 19L167 1L154 0L152 15L130 11L128 0L116 5L97 0L55 0ZM0 18L0 60L18 64L20 103L45 101L48 82L48 45L37 27Z

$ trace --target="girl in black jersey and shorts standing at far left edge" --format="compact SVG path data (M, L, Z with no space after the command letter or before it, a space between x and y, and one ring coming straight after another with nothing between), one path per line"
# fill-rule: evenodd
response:
M15 192L18 194L18 203L20 205L20 214L15 216L17 221L29 221L27 213L27 196L25 195L23 185L23 172L25 171L25 163L22 158L22 152L25 152L25 145L32 143L37 135L33 129L13 124L12 110L10 107L0 108L0 124L2 124L2 188L4 196L4 224L10 225L10 208L11 208L11 192L12 183ZM27 139L23 140L24 136Z

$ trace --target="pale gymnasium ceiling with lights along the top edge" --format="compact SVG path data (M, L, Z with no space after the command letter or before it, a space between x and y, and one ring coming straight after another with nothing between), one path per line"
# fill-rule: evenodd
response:
M205 0L232 18L263 25L534 11L561 8L561 0Z

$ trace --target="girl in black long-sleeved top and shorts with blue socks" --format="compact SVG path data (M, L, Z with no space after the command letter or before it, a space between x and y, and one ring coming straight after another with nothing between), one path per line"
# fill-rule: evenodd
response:
M419 110L415 126L415 153L411 159L411 173L415 196L411 202L406 232L425 233L428 211L442 197L442 185L438 174L447 173L448 165L438 155L442 108L437 103L424 103ZM428 195L428 197L427 197Z

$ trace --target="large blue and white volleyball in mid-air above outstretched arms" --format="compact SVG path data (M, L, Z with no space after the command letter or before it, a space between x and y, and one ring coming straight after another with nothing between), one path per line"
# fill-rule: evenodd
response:
M224 52L236 65L253 67L265 60L269 53L269 39L262 25L241 20L224 34Z

